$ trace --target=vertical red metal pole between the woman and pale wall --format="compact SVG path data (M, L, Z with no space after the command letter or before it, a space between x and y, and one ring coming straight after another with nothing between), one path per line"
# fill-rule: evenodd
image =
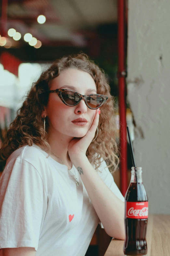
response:
M120 191L125 196L127 176L127 130L126 130L126 71L125 71L125 0L118 0L118 83L120 115Z

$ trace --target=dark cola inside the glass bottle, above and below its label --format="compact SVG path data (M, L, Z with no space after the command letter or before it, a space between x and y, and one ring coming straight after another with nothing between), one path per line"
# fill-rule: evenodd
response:
M125 201L146 202L148 196L142 183L131 182L125 195ZM125 204L126 214L126 204ZM126 238L123 252L128 256L142 256L147 254L147 219L124 218Z

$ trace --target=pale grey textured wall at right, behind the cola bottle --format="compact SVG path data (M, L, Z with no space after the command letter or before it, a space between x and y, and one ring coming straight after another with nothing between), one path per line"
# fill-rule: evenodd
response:
M170 214L170 1L128 1L128 101L149 213Z

